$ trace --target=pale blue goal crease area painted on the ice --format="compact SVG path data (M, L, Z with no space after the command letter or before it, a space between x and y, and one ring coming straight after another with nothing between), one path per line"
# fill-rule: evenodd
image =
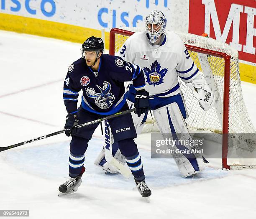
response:
M105 175L103 170L94 165L94 160L100 153L102 144L103 141L101 138L93 138L89 142L85 157L87 170L84 175L84 184L102 188L133 188L133 179L125 180L120 174ZM150 153L143 149L140 150L140 154L144 170L147 174L147 183L152 188L177 186L195 181L222 178L229 175L228 171L220 171L220 169L209 167L203 173L198 174L198 176L181 178L174 160L151 159ZM40 155L40 158L38 158L38 155ZM68 178L68 158L69 142L52 143L20 150L9 150L5 155L5 160L20 171L26 172L29 170L30 173L49 180L59 178L60 182L61 180L63 181L64 177Z

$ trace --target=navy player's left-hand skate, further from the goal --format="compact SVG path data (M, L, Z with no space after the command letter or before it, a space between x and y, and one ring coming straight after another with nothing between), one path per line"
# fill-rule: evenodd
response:
M78 187L82 183L82 175L85 171L85 168L83 168L82 172L80 175L78 175L75 178L70 178L68 181L62 183L59 186L59 195L58 196L64 196L67 194L72 194L77 191Z

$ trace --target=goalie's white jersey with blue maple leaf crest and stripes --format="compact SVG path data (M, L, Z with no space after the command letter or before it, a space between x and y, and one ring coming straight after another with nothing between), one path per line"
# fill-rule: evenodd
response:
M200 74L182 40L169 31L166 31L161 46L152 46L145 32L134 33L117 55L143 69L145 89L158 97L170 97L180 92L178 76L187 83Z

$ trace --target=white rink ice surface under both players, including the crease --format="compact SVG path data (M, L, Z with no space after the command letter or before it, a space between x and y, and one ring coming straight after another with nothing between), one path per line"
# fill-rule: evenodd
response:
M63 129L63 80L79 59L80 44L0 31L0 147ZM256 125L256 85L242 82ZM256 170L224 171L216 165L181 178L172 159L150 158L150 135L136 140L148 186L148 204L132 178L105 175L94 166L102 148L100 129L86 152L79 190L58 197L68 178L70 138L40 140L0 153L0 210L29 210L30 218L252 219L256 218Z

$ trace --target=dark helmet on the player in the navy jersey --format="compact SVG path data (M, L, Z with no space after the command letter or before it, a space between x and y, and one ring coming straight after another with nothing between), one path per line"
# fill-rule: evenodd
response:
M82 57L84 58L84 51L96 52L97 57L99 56L100 52L103 53L104 50L104 43L102 38L100 37L89 37L84 43L82 44Z

